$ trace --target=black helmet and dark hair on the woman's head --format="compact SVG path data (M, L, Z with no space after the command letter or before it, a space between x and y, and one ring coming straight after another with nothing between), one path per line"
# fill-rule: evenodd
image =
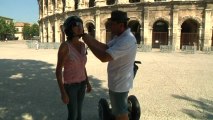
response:
M70 16L64 21L63 30L67 40L71 40L74 37L72 27L77 26L79 22L83 24L83 21L78 16Z

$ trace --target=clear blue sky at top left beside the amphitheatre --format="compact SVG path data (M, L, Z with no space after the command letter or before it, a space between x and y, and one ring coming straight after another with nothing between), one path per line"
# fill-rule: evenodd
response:
M39 19L37 0L0 0L0 16L14 22L37 23Z

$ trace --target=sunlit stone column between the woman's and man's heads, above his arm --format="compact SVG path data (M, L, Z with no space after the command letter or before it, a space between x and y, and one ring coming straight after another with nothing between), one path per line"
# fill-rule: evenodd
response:
M95 33L95 38L100 40L100 10L97 10L95 14Z

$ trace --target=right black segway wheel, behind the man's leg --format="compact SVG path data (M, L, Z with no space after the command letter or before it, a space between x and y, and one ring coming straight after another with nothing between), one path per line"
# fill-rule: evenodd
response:
M140 104L134 95L128 97L129 118L130 120L139 120L141 115Z

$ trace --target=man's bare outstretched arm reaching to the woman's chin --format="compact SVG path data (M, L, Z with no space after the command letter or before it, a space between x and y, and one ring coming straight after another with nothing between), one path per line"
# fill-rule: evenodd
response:
M84 34L82 36L83 41L87 44L87 46L90 48L92 53L102 62L108 62L113 60L110 54L106 52L108 49L108 46L104 43L99 42L92 36L88 34Z

